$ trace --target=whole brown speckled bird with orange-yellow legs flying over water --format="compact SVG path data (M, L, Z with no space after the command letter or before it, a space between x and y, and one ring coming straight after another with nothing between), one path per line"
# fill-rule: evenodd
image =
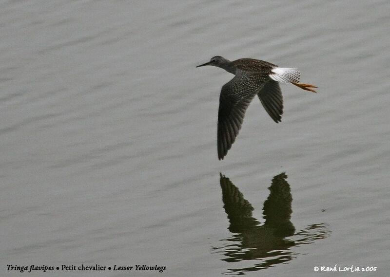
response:
M245 111L254 96L260 99L264 109L276 123L281 122L283 97L279 83L291 83L305 91L316 92L311 84L299 83L300 72L296 68L282 68L270 62L252 58L234 61L214 56L209 62L198 65L220 67L235 76L222 86L219 95L217 123L218 159L223 160L241 129Z

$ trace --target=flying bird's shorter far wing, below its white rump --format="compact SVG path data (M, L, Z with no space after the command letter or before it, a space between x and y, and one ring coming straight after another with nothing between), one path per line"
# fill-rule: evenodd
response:
M283 96L279 83L269 80L264 87L257 93L264 109L271 116L273 121L279 123L282 121L283 114Z

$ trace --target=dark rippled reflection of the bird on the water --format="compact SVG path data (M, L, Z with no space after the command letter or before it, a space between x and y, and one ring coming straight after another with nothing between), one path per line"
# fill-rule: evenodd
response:
M243 274L289 262L297 255L291 251L293 246L329 236L330 231L323 223L310 225L294 234L295 227L291 222L292 195L286 179L286 173L273 177L270 195L263 207L265 222L259 225L260 222L253 217L252 204L229 178L220 174L223 207L230 222L228 229L234 235L222 240L224 246L215 247L214 251L225 255L226 258L222 260L227 262L256 260L254 265L230 269L230 274Z

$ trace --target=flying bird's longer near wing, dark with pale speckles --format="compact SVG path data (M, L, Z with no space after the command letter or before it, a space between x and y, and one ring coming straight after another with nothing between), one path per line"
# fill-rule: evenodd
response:
M223 85L219 96L217 148L222 160L232 147L241 129L245 111L254 96L261 90L266 74L249 74L237 70L234 78Z

